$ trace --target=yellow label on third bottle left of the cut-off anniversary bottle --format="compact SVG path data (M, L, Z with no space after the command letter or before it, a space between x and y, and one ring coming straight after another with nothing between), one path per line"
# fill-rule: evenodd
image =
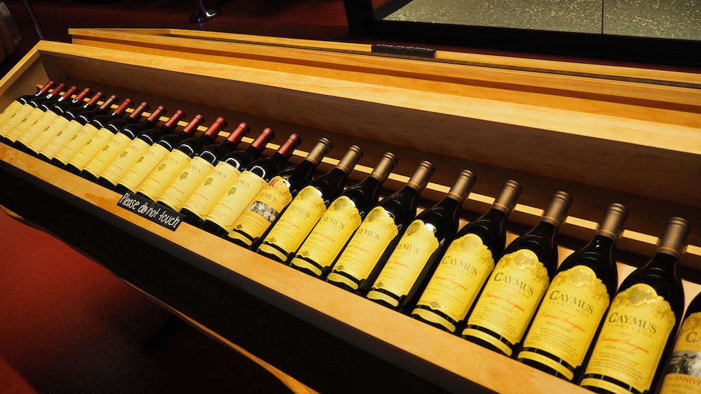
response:
M484 285L482 295L468 318L468 325L484 327L511 344L517 344L524 336L549 284L547 269L532 250L521 249L506 254L499 259ZM463 335L476 336L476 332L480 331L468 328ZM511 355L509 346L488 337L490 344Z

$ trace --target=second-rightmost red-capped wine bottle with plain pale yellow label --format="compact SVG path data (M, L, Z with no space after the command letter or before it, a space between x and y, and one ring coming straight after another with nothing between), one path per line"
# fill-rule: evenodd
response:
M241 175L241 171L260 156L266 144L274 137L273 130L265 128L246 149L233 151L224 156L210 172L210 176L205 178L182 206L180 213L185 215L184 222L201 226L226 191L231 189L233 182L236 182Z

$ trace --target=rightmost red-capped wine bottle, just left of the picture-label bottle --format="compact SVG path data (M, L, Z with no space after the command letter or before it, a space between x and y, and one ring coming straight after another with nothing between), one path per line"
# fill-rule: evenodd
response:
M301 138L291 134L272 156L259 158L250 164L249 168L233 182L231 189L215 205L205 222L200 226L220 237L226 238L233 229L233 223L253 202L268 182L283 169L294 149L299 147Z

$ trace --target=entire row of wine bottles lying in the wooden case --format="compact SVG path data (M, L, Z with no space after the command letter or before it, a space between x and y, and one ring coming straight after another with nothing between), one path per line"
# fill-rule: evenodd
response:
M112 110L115 96L100 103L104 95L91 94L50 81L18 97L0 113L2 142L109 189L149 198L210 233L590 390L644 393L662 374L684 305L676 275L689 231L684 219L669 220L657 252L617 292L613 250L627 219L620 204L606 210L591 242L558 268L557 233L571 205L562 191L531 231L505 247L505 223L521 193L515 181L458 231L461 204L476 181L468 170L442 201L416 215L418 196L435 171L427 161L402 189L379 201L397 164L393 154L344 189L362 158L355 145L332 170L313 177L332 149L325 138L283 169L301 143L298 135L258 158L275 137L269 128L236 150L249 133L245 123L215 144L226 128L223 118L195 137L200 115L175 132L182 111L157 127L165 108L141 121L147 103L126 116L130 99ZM667 381L677 390L669 393L701 382L700 299L688 308L663 392Z

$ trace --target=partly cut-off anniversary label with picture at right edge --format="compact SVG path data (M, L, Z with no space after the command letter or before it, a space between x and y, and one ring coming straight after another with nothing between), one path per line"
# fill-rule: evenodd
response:
M660 394L701 391L701 312L691 313L681 324L665 373Z

